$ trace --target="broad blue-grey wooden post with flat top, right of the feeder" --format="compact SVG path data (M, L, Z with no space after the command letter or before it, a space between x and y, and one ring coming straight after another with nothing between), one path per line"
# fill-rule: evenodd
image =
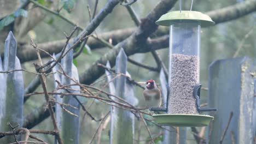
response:
M256 65L249 58L230 58L209 67L209 107L216 107L214 121L208 126L207 141L219 143L233 116L223 143L253 143L253 95ZM233 135L231 135L231 131Z

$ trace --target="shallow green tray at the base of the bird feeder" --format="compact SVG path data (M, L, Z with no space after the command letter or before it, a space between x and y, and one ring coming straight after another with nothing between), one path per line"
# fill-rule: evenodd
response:
M156 123L160 125L171 125L174 127L205 127L211 120L212 116L208 115L191 115L191 114L159 114L153 115Z

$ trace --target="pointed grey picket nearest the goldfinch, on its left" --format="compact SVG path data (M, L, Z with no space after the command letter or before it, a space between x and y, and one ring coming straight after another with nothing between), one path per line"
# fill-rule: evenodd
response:
M121 49L115 61L115 71L118 74L126 74L126 63L127 56L124 50ZM126 99L125 83L126 77L124 75L119 75L115 79L115 95L117 97ZM130 111L114 109L112 116L111 121L113 128L110 129L110 134L112 134L110 135L110 143L133 143L133 128Z

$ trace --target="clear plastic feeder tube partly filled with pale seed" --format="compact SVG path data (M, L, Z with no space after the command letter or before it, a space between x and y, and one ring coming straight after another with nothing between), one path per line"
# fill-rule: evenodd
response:
M168 113L198 114L193 88L199 83L200 32L193 20L170 26Z

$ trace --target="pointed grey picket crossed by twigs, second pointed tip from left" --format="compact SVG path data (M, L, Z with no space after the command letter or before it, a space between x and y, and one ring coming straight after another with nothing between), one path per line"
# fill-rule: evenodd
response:
M68 45L66 49L68 50L69 47L70 46ZM65 74L78 80L77 69L73 66L73 50L69 51L67 55L62 58L61 65L63 67L63 70L65 71ZM66 77L65 75L61 75L62 85L69 85L71 83L73 82L68 77ZM79 87L77 86L71 86L71 88L76 88L79 90ZM63 93L66 93L66 92L67 92L66 90L63 90ZM69 91L69 92L73 93L74 91ZM62 98L62 103L72 105L74 107L77 107L78 109L74 109L73 107L63 105L62 116L61 116L61 138L63 140L63 143L78 144L79 143L79 103L73 97L73 95L64 96ZM69 112L72 112L78 117L71 115L71 113L68 113L63 108L65 108Z

